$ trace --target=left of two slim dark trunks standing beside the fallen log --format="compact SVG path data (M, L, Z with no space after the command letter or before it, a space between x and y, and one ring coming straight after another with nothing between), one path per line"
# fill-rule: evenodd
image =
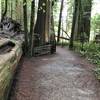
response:
M27 2L23 0L24 31L25 31L25 54L28 54L28 27L27 27Z

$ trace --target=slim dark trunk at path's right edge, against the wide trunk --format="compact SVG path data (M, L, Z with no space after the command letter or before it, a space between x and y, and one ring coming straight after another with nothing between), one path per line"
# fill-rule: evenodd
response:
M72 21L72 30L71 30L71 38L70 38L70 44L69 48L73 48L73 41L74 41L74 31L75 31L75 24L76 24L76 18L77 18L77 6L78 6L78 0L74 1L75 7L73 12L73 21Z

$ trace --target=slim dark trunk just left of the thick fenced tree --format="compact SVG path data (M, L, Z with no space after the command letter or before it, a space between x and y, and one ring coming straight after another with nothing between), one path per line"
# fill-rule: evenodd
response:
M31 19L30 19L30 37L29 37L29 45L30 45L30 56L33 55L33 45L34 45L34 18L35 18L35 0L32 0L31 3Z

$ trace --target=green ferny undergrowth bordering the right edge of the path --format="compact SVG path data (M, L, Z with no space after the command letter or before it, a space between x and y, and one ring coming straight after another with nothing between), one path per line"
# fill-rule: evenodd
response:
M86 57L90 62L96 64L97 67L94 69L97 79L100 79L100 45L96 43L85 43L83 50L81 50L80 43L75 43L75 50Z

